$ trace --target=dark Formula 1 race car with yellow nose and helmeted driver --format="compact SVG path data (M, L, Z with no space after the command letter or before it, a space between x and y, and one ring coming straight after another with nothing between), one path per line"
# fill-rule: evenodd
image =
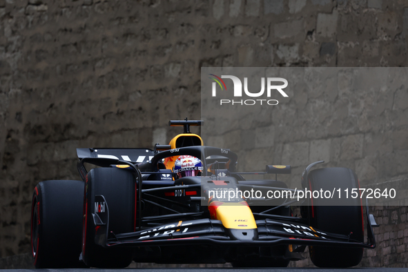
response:
M168 145L77 148L81 181L37 184L31 209L36 268L120 268L133 260L288 266L304 258L306 246L316 266L347 267L360 263L364 248L376 246L371 229L376 222L367 206L364 215L360 197L339 198L344 205L336 206L311 197L299 205L301 216L293 216L291 205L298 202L293 196L249 195L293 193L276 178L291 173L290 166L267 165L260 174L275 179L247 180L253 173L237 172L233 151L204 146L190 132L202 121L169 124L183 126L184 133ZM305 168L304 188L358 188L351 169L310 171L318 163ZM87 171L85 164L99 167Z

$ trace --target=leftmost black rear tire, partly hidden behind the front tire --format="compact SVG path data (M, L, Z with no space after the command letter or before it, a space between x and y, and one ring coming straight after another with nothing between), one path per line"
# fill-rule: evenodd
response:
M36 269L84 267L81 253L84 182L39 182L32 195L31 253Z

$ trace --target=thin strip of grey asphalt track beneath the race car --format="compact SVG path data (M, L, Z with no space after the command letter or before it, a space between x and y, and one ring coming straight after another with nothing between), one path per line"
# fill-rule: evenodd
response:
M132 268L133 269L133 268ZM129 269L4 269L3 271L10 271L10 272L28 272L28 271L47 271L47 272L57 272L57 271L67 271L67 272L81 272L81 271L92 271L92 272L117 272L117 271L129 271ZM274 271L274 272L311 272L311 271L318 271L318 272L329 272L329 271L336 271L336 272L345 272L345 271L378 271L378 272L402 272L407 271L406 268L370 268L370 267L362 267L362 268L349 268L349 269L318 269L318 268L262 268L262 269L235 269L235 268L203 268L203 269L190 269L190 268L177 268L177 269L137 269L137 271L142 272L264 272L264 271Z

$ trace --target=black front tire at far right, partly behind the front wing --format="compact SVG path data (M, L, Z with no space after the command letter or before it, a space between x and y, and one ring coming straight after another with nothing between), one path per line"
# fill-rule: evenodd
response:
M311 191L336 191L341 193L348 188L359 188L355 173L349 168L321 168L309 173L309 188ZM310 187L311 186L311 187ZM344 197L344 195L343 195ZM360 197L337 199L339 204L353 206L319 206L322 200L313 199L309 207L311 226L321 231L350 235L351 239L364 242L363 217ZM335 246L309 246L310 258L319 267L350 267L356 266L362 259L362 248L347 248Z

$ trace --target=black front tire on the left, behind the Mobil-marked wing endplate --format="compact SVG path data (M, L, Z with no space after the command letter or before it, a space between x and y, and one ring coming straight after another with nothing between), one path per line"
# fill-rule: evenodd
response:
M109 211L109 230L113 233L135 231L135 178L118 168L93 168L87 175L84 191L82 258L88 266L123 268L129 266L131 249L105 248L95 244L95 195L104 195Z

